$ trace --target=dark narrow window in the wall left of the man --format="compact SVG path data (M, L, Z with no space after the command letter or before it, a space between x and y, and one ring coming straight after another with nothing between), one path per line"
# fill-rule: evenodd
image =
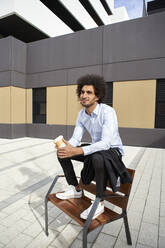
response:
M33 89L33 123L46 123L46 88Z

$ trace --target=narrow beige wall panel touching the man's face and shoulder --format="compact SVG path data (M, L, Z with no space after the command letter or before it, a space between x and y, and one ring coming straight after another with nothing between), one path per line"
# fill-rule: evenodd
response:
M82 108L76 94L76 85L68 86L68 101L67 101L67 125L75 125L77 115Z

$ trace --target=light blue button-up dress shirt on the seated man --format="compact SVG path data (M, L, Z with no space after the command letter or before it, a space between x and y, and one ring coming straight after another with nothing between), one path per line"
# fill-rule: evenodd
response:
M85 108L81 109L69 143L74 147L78 146L85 130L90 134L92 144L82 147L84 155L108 150L110 147L118 147L124 155L117 117L112 107L103 103L97 104L91 115L85 112Z

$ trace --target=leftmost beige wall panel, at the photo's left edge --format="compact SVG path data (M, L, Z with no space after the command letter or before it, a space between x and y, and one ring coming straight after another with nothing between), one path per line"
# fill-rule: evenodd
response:
M10 87L0 87L0 123L10 123Z

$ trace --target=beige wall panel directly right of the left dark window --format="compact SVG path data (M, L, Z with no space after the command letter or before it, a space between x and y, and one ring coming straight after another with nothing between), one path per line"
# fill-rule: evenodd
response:
M66 125L67 86L47 87L47 124Z

